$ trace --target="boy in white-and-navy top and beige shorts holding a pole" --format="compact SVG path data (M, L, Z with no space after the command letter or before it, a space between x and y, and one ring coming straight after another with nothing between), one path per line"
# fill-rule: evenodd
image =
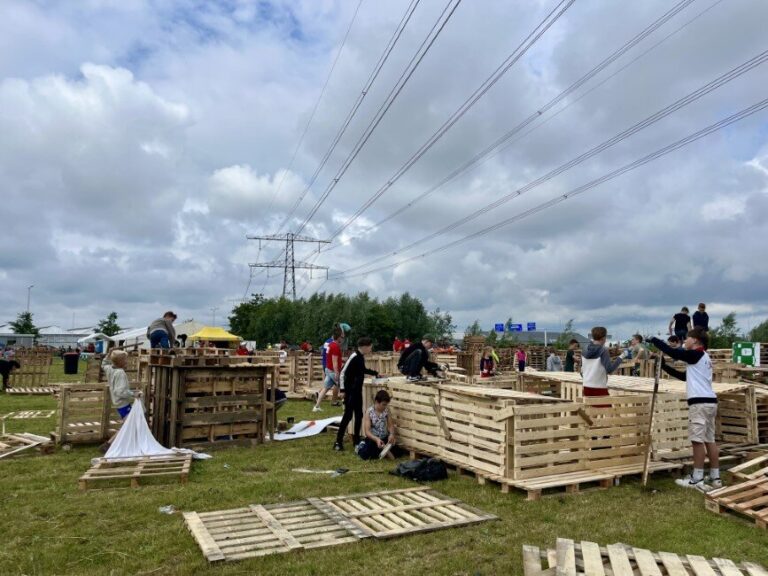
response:
M675 480L683 488L697 488L709 492L720 488L720 452L715 443L717 420L717 394L712 389L712 360L707 354L709 336L703 328L695 327L688 332L682 348L672 348L659 338L651 343L674 360L682 360L688 366L685 372L667 366L663 359L661 369L670 376L685 382L688 396L688 438L693 445L693 473ZM704 459L709 458L709 483L704 478Z

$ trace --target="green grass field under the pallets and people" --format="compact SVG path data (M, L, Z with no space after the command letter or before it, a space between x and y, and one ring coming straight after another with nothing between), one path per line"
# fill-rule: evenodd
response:
M280 417L309 418L310 407L291 401ZM46 408L55 408L55 400L0 395L0 414ZM333 413L326 409L323 416ZM52 419L8 422L10 430L37 433L54 425ZM414 485L389 475L391 462L362 462L350 447L333 452L332 443L321 434L217 450L213 459L193 464L186 486L136 490L78 490L78 477L98 456L95 447L0 461L0 574L522 574L522 544L553 546L558 536L768 566L765 531L705 511L700 493L676 488L669 477L651 480L655 492L625 481L610 490L526 502L522 493L502 494L497 486L479 486L452 472L434 488L499 520L213 567L181 515L158 512L168 504L204 512ZM366 473L330 478L291 472L342 466Z

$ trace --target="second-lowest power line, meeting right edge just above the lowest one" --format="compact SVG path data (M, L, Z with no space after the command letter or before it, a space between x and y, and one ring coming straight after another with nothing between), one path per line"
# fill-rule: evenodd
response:
M659 120L669 116L670 114L680 110L681 108L699 100L703 96L709 94L710 92L713 92L714 90L717 90L721 86L728 84L729 82L735 80L742 74L745 74L746 72L749 72L750 70L756 68L757 66L760 66L761 64L768 61L768 50L761 52L757 56L754 56L753 58L750 58L748 61L744 62L743 64L740 64L739 66L736 66L735 68L729 70L725 74L722 74L721 76L718 76L714 80L708 82L707 84L701 86L700 88L694 90L693 92L689 93L688 95L684 96L683 98L680 98L679 100L673 102L672 104L662 108L661 110L655 112L654 114L651 114L647 118L641 120L640 122L637 122L636 124L630 126L626 130L623 130L622 132L619 132L612 138L609 138L608 140L605 140L601 144L598 144L597 146L594 146L593 148L589 149L588 151L576 156L575 158L572 158L568 162L565 162L564 164L561 164L557 168L554 168L553 170L550 170L543 176L540 176L539 178L532 180L522 188L519 188L513 192L510 192L509 194L505 194L498 200L491 202L490 204L486 204L482 208L479 208L478 210L475 210L471 214L468 214L467 216L464 216L463 218L460 218L459 220L456 220L455 222L448 224L447 226L444 226L443 228L440 228L436 232L433 232L431 234L428 234L427 236L424 236L423 238L415 241L411 246L403 248L401 250L396 250L395 252L392 252L391 254L385 254L383 256L380 256L379 258L376 258L366 264L362 264L360 266L356 266L353 268L350 268L349 270L357 270L359 268L364 268L365 266L369 266L370 264L374 264L376 262L380 262L386 258L389 258L390 256L399 254L401 252L409 250L412 246L422 244L424 242L428 242L429 240L433 240L434 238L437 238L438 236L441 236L443 234L446 234L448 232L451 232L452 230L455 230L459 226L462 226L468 222L471 222L472 220L475 220L479 216L482 216L483 214L486 214L487 212L491 210L495 210L496 208L499 208L503 204L506 204L510 200L517 198L519 196L522 196L526 192L529 192L530 190L540 186L541 184L544 184L545 182L548 182L552 178L559 176L563 172L566 172L567 170L573 168L574 166L577 166L578 164L581 164L582 162L592 158L593 156L596 156L597 154L600 154L601 152L604 152L608 148L611 148L618 144L619 142L626 140L627 138L633 136L637 132L640 132L641 130L644 130L645 128L655 124Z

